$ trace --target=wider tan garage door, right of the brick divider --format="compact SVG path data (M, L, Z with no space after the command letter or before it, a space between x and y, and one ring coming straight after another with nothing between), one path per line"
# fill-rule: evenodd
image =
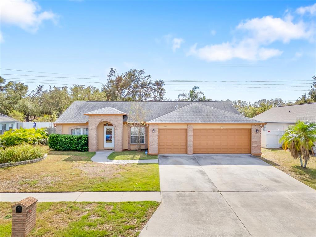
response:
M193 129L193 153L250 154L250 129Z

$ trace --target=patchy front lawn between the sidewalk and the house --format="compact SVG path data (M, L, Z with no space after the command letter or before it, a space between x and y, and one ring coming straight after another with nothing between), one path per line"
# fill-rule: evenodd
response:
M160 191L158 164L100 164L94 152L47 150L43 161L0 169L1 192Z

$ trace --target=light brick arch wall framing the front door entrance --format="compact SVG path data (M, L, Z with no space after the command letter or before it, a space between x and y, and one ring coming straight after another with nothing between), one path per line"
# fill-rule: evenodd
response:
M123 150L123 116L122 115L89 115L89 151L98 150L97 126L109 122L114 126L114 151Z

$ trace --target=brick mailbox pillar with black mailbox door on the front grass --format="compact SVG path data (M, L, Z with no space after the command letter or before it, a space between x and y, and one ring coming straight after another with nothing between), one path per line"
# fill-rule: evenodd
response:
M12 237L24 237L34 228L36 203L36 198L27 197L12 206Z

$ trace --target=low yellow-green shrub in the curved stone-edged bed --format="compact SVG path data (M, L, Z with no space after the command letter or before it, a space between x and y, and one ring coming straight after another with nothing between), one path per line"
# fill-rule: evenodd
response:
M0 163L33 160L41 158L44 154L43 147L30 144L0 148Z

